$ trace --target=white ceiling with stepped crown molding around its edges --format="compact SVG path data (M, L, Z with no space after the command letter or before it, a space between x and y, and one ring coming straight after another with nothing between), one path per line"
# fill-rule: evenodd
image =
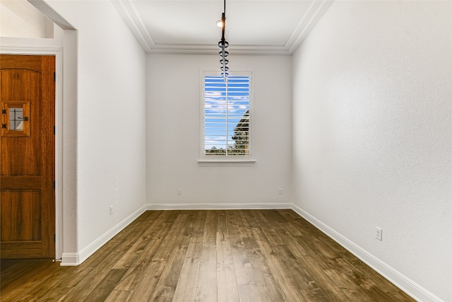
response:
M111 0L145 52L215 54L222 0ZM226 0L234 54L292 54L333 1Z

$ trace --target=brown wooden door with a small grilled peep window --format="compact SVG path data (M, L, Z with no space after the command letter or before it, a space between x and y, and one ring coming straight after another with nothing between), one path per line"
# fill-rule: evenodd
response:
M0 55L0 256L55 256L55 57Z

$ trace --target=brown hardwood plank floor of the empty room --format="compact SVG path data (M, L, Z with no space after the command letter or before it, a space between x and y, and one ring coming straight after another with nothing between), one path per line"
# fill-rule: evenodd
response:
M292 210L146 211L78 267L1 262L1 301L414 301Z

